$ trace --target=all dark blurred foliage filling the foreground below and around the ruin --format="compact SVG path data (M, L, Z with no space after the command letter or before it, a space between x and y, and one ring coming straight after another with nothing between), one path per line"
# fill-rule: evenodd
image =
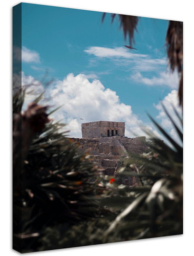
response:
M21 95L14 96L17 111ZM182 131L163 109L183 140ZM20 115L16 110L14 116ZM21 116L25 113L29 114ZM145 130L152 137L152 142L145 142L150 151L131 155L114 178L91 166L89 156L80 154L61 132L64 124L45 122L41 131L33 132L27 152L21 151L21 172L13 180L14 248L30 252L182 234L183 147L152 121L168 143ZM119 184L119 177L126 175L137 183Z

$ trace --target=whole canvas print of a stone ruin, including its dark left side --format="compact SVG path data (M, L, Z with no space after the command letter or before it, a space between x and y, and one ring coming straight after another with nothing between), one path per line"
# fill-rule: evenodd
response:
M183 23L14 6L13 248L182 233Z

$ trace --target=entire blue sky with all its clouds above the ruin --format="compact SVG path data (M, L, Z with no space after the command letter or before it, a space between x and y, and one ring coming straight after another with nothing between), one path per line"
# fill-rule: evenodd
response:
M47 71L53 82L46 98L62 105L54 118L72 137L81 137L81 122L96 120L124 121L128 137L142 135L140 125L156 133L146 112L174 136L159 105L177 105L178 75L169 72L165 51L168 20L141 17L137 50L129 50L118 18L101 19L101 12L23 3L23 84L45 89Z

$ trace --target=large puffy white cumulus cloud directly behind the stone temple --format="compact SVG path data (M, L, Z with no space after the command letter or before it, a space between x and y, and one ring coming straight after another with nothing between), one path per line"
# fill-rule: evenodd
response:
M68 124L66 129L71 131L71 137L81 137L82 122L99 120L125 122L128 137L144 134L140 129L142 122L133 114L131 106L121 103L116 92L105 89L97 79L90 82L83 74L69 74L47 93L51 96L49 104L62 105L53 115Z

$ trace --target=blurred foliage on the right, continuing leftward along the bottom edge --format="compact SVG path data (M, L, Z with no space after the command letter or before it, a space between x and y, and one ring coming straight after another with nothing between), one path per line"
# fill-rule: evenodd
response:
M164 111L169 115L165 108ZM170 119L182 138L182 132ZM182 123L180 116L179 120ZM118 169L119 175L135 176L139 182L131 187L116 182L107 184L110 189L104 192L99 202L112 214L74 225L65 232L63 225L45 229L41 250L183 233L183 148L154 123L169 143L153 135L152 142L146 142L149 153L131 155L124 167Z

